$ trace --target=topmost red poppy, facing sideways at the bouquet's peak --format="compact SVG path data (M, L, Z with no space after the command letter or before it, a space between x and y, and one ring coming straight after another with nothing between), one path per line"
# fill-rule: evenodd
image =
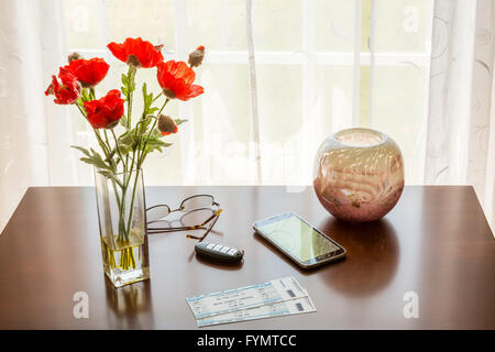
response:
M118 59L135 67L150 68L163 62L163 55L160 50L141 37L128 37L123 44L112 42L107 47Z

